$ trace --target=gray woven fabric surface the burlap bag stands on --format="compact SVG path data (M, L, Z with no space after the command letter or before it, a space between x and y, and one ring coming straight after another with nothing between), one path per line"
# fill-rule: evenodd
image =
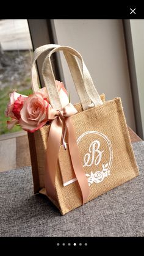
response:
M65 216L34 195L31 167L0 173L0 236L144 236L144 142L133 148L139 177Z

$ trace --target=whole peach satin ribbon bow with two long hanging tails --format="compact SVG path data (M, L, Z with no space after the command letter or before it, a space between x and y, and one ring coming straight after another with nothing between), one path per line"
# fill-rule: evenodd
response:
M68 130L68 147L70 151L71 163L82 192L82 203L87 202L89 187L85 172L82 167L79 156L79 148L76 142L73 123L70 116L77 113L77 110L71 103L68 103L65 108L60 110L52 109L49 106L48 119L52 120L48 136L48 145L46 150L45 164L45 188L49 197L57 201L56 197L56 170L59 156L60 142L62 139L63 123Z

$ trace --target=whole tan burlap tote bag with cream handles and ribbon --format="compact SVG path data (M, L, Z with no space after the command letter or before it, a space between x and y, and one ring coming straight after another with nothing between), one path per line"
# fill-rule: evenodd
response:
M104 101L103 95L99 97L81 54L73 48L42 46L35 51L34 62L48 48L54 49L46 56L42 73L52 106L52 122L29 134L29 144L35 192L48 196L65 214L131 180L139 170L121 99ZM81 101L75 106L62 106L56 89L50 58L60 50ZM81 60L82 71L76 58ZM36 92L34 62L32 88Z

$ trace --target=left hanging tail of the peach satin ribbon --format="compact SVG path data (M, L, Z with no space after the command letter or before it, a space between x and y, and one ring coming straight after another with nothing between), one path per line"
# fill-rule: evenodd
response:
M56 197L56 170L59 156L60 142L62 139L62 120L60 117L51 123L48 136L45 161L45 188L49 197L57 201Z

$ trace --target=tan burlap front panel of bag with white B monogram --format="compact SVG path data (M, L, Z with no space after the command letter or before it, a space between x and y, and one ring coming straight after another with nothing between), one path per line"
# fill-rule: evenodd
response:
M139 175L120 98L71 119L90 186L87 201ZM62 165L57 170L56 188L62 214L65 214L79 207L82 197L77 181L63 186L60 172L65 172Z

